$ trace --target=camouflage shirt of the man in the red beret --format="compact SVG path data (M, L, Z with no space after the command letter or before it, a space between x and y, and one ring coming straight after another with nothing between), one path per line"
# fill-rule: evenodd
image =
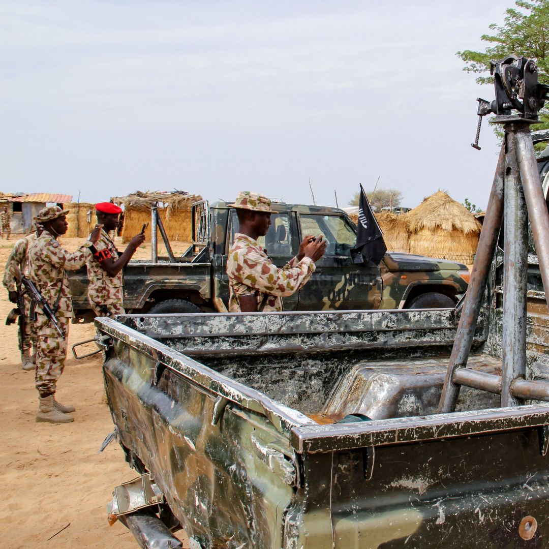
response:
M111 257L113 261L119 258L118 250L113 240L106 231L101 231L96 248L100 257L107 259ZM86 259L88 268L88 298L98 305L119 304L122 306L124 293L122 289L122 271L116 276L110 277L107 271L104 271L96 257L91 254Z

